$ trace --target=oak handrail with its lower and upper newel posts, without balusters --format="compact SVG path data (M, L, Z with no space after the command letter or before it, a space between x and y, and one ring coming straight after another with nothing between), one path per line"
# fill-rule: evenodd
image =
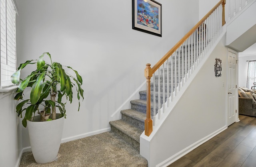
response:
M150 100L150 79L153 76L153 74L156 72L157 69L161 67L161 65L204 23L204 21L222 4L222 26L226 23L225 22L225 4L226 0L220 0L213 8L210 10L188 33L168 51L160 61L156 63L152 68L150 67L150 64L146 64L145 69L145 77L147 80L147 105L146 105L146 120L145 120L145 135L150 136L151 132L153 131L153 123L151 119L151 100Z

